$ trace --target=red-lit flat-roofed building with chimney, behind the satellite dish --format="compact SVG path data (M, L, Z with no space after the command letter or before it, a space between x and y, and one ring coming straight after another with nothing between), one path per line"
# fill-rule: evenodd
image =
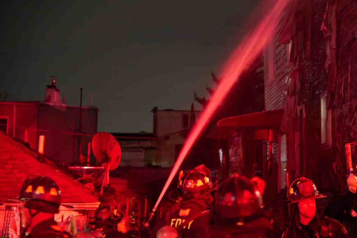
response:
M52 95L52 96L51 96ZM45 136L44 154L71 165L87 155L87 144L97 132L98 108L69 106L55 84L47 86L45 101L0 102L0 130L37 150Z

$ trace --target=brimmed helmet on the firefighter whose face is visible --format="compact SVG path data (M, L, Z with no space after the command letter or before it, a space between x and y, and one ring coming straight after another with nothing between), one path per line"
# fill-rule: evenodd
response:
M291 203L296 203L307 198L319 199L325 197L325 195L322 195L317 191L312 180L305 177L295 179L291 183L288 192L288 202Z

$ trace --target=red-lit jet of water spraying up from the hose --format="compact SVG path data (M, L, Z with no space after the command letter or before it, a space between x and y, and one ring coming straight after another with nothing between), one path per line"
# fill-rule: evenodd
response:
M229 92L230 88L240 77L243 71L245 71L255 60L255 58L263 50L263 47L271 39L272 34L275 32L276 26L282 16L282 13L286 6L290 4L291 0L276 0L276 1L263 1L264 6L261 9L267 11L266 15L252 31L247 35L238 45L231 57L228 59L226 66L222 71L222 78L220 85L213 93L210 101L208 102L205 110L202 112L199 120L193 126L190 131L187 140L185 141L177 161L172 168L169 178L166 181L164 188L157 200L153 212L156 211L162 196L164 196L169 184L174 178L178 168L181 166L183 159L187 153L191 150L193 143L200 136L207 123L212 118L213 113L216 111L218 105L220 105Z

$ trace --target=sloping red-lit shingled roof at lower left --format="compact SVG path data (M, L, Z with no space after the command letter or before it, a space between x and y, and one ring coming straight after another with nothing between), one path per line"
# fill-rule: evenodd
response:
M0 203L19 195L22 181L29 175L44 175L56 181L62 192L62 203L98 203L98 199L81 183L75 182L64 168L0 131Z

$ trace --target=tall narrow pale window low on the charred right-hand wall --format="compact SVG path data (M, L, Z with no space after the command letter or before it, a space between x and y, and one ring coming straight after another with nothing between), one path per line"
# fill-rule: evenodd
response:
M320 99L321 103L321 144L325 147L332 145L331 131L331 109L327 110L327 93L323 93Z

